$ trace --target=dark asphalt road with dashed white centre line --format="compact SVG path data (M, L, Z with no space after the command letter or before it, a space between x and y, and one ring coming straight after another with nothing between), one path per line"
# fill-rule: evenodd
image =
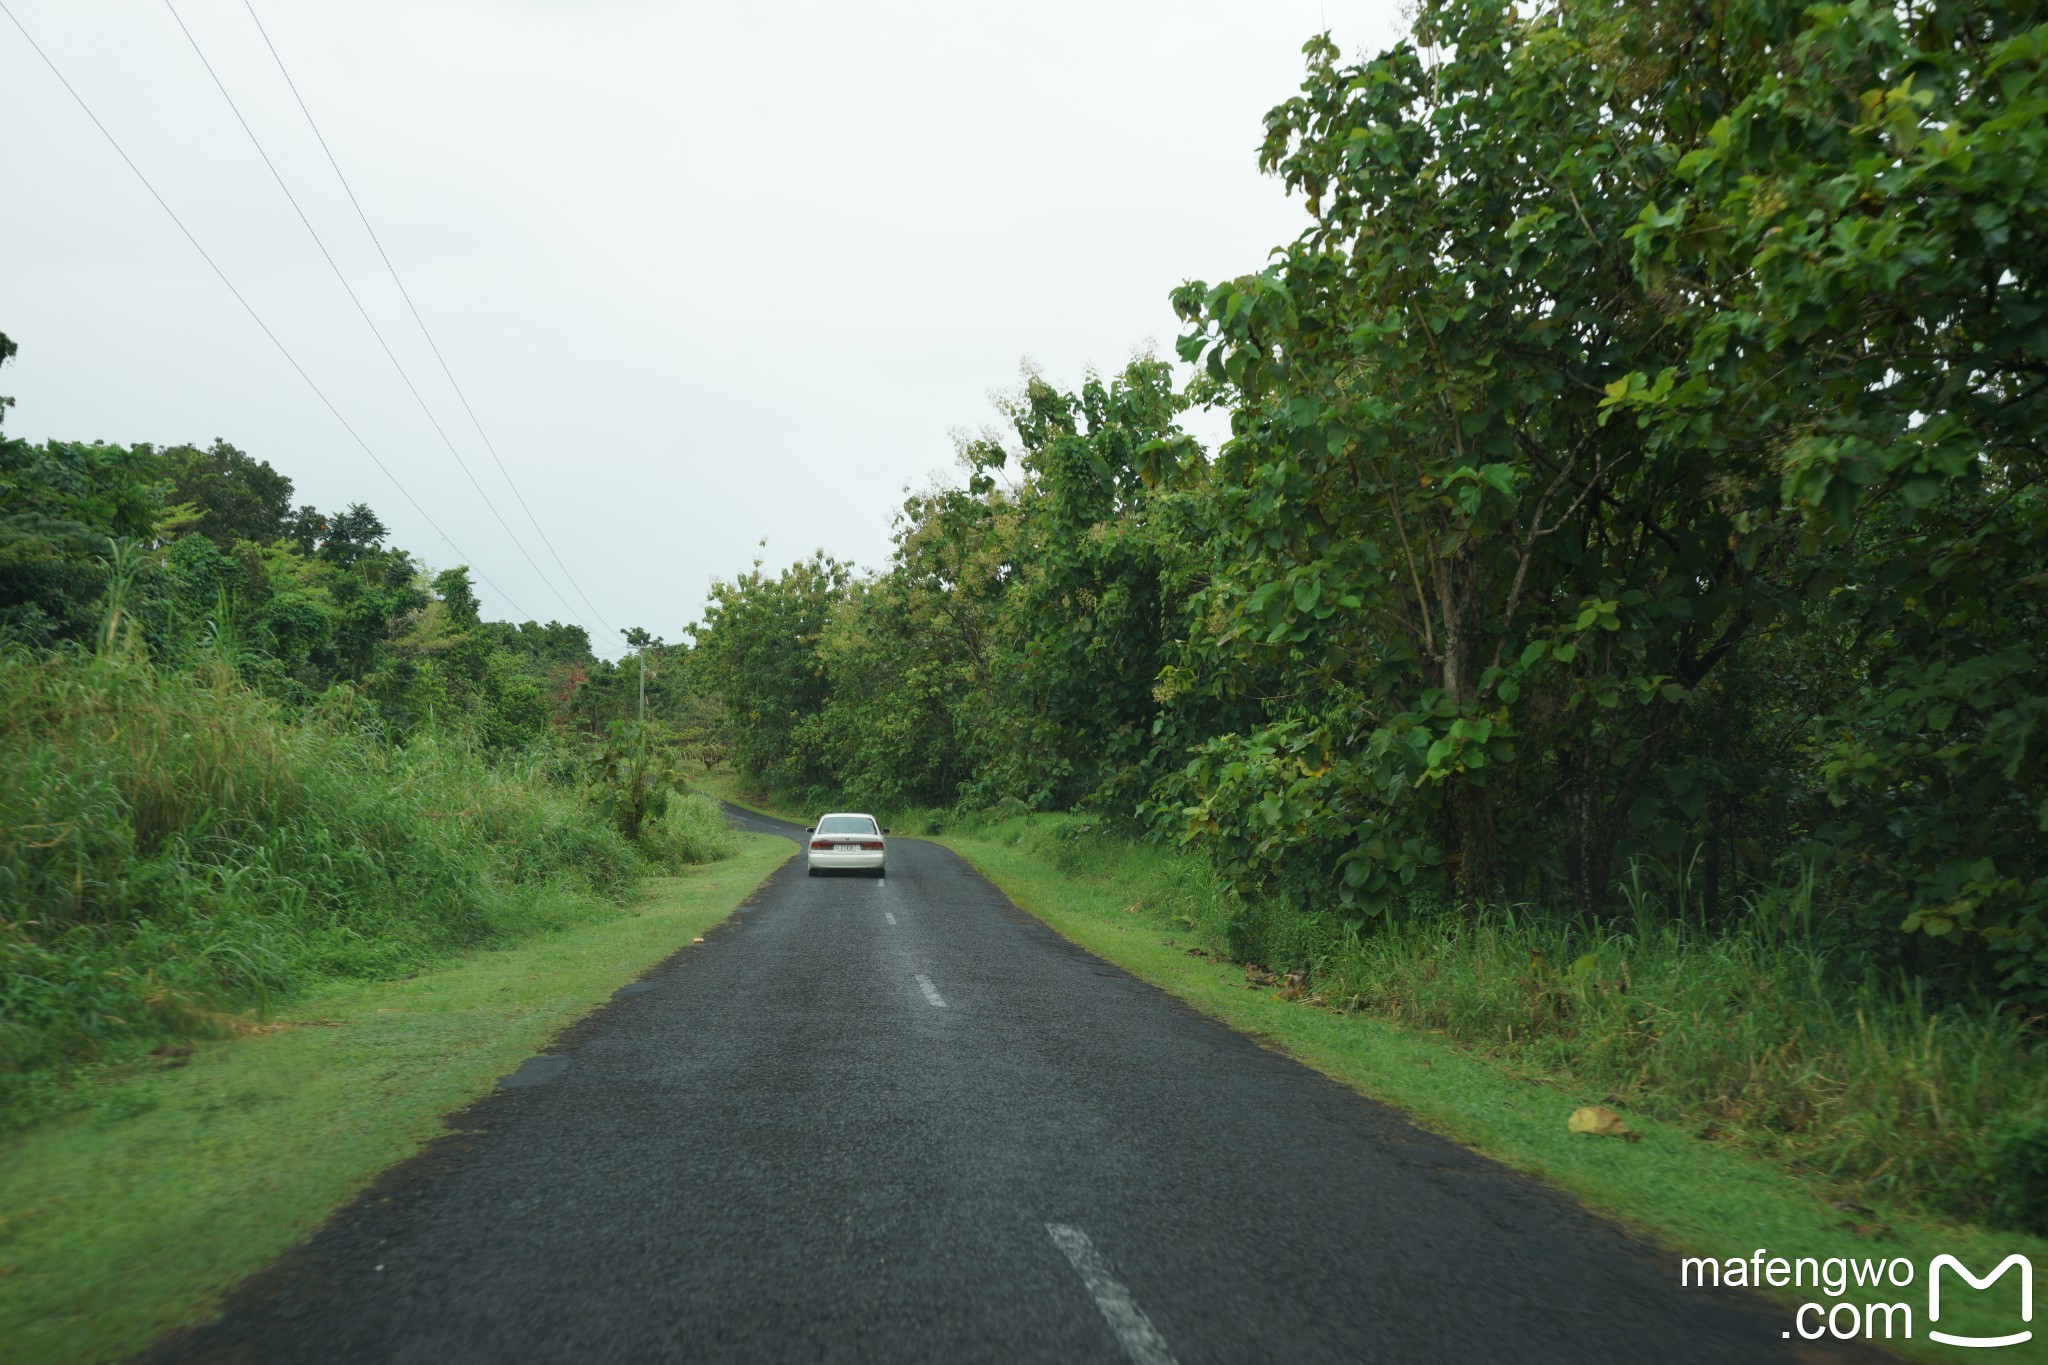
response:
M774 833L795 827L743 814ZM786 864L160 1361L1769 1361L952 853ZM1800 1359L1815 1359L1810 1355Z

